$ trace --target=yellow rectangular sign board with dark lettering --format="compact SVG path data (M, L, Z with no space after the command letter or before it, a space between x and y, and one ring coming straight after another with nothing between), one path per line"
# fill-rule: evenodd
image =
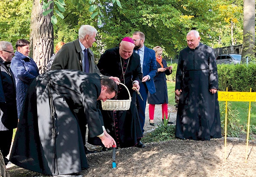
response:
M218 100L256 102L256 92L218 91Z

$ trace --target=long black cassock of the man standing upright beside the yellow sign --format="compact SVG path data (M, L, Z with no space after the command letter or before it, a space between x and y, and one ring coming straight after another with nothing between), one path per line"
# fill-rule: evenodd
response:
M182 89L177 111L176 137L192 140L221 138L218 72L212 48L201 44L180 51L176 89Z

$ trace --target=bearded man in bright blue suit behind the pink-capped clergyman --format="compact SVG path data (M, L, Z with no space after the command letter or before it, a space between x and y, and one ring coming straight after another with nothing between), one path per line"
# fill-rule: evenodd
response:
M140 31L134 32L132 39L134 40L134 50L140 55L141 71L143 73L142 83L140 83L140 97L137 97L137 109L139 112L140 128L144 133L145 124L145 109L148 98L148 91L150 94L156 92L153 77L157 74L157 61L155 51L144 46L145 34ZM145 147L141 141L138 141L138 147Z

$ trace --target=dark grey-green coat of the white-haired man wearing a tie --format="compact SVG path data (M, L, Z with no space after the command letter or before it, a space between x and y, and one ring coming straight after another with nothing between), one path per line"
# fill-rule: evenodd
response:
M74 40L70 43L66 43L57 52L55 59L52 63L51 69L73 69L78 71L83 71L82 60L84 54L82 52L81 46L79 44L79 39ZM101 78L108 78L103 76L94 61L94 54L91 49L88 49L88 59L90 63L89 72L98 73Z

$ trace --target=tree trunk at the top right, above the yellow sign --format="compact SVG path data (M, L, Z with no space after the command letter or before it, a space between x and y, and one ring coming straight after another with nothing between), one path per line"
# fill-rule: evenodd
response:
M244 0L244 39L242 57L254 55L255 49L255 0Z

